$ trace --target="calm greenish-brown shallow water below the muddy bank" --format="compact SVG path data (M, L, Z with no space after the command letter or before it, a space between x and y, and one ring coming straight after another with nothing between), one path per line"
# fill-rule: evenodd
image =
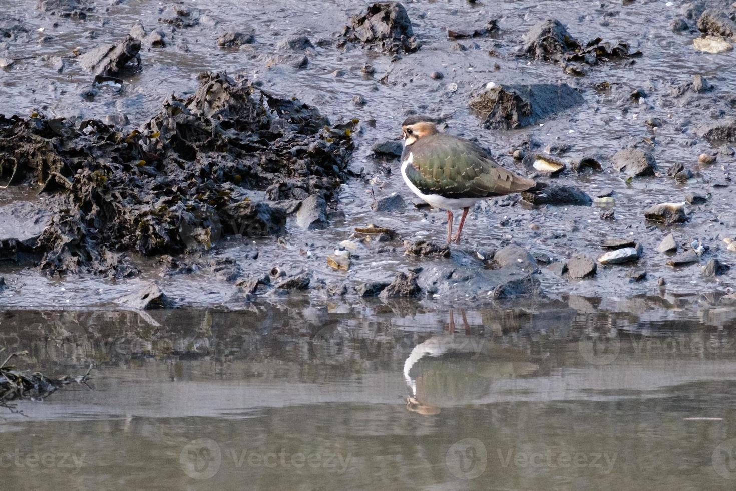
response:
M6 311L83 372L0 414L15 490L732 489L733 320L259 305Z

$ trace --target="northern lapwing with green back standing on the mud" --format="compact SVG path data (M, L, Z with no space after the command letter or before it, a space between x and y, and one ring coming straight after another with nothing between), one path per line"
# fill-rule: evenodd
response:
M462 210L454 238L459 244L465 217L475 203L540 186L503 169L478 144L440 132L428 116L407 118L401 130L401 175L414 194L447 211L447 244L453 241L453 210Z

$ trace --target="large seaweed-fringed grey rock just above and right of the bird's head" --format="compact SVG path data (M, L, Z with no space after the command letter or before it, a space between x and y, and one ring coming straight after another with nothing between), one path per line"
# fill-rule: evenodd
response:
M486 129L523 128L584 102L570 85L495 85L470 100Z

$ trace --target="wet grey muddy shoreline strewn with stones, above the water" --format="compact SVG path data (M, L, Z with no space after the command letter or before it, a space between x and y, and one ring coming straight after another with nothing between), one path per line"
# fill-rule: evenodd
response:
M328 176L335 180L318 185L310 179L322 179L332 167L316 172L310 162L324 158L312 149L305 150L306 160L292 155L300 163L289 172L264 166L261 158L261 168L250 181L243 181L241 168L230 172L222 171L222 164L220 170L205 166L202 174L220 177L206 189L190 188L191 199L202 203L199 211L184 203L193 219L177 215L163 225L149 222L152 230L166 229L157 232L150 247L141 245L140 238L125 239L137 224L107 235L100 227L95 237L82 227L75 229L81 230L75 244L93 239L105 247L124 247L62 250L50 262L48 250L39 250L34 240L49 233L55 237L49 244L68 239L68 229L60 231L56 225L49 230L66 181L54 180L49 186L44 175L39 184L38 179L14 175L5 162L3 184L13 182L0 193L1 305L239 309L285 297L305 303L363 299L359 301L386 305L513 303L527 302L530 296L534 301L584 297L592 303L660 298L663 303L676 299L726 307L735 302L730 285L736 271L728 265L736 257L729 250L729 239L735 238L729 174L736 158L727 141L733 138L729 116L736 105L735 55L693 48L693 40L705 35L700 29L732 35L733 7L728 2L580 4L574 12L562 1L539 7L531 2L460 7L417 2L405 4L405 13L392 14L397 32L390 42L361 30L366 22L361 13L370 12L369 4L325 13L317 2L308 1L303 9L311 15L295 6L249 10L227 2L206 7L195 2L160 7L153 2L46 4L61 5L63 13L18 2L2 26L0 57L10 62L0 71L4 121L12 114L19 118L13 123L17 127L63 121L58 132L68 136L72 128L96 119L112 125L97 130L107 132L98 141L113 143L105 149L108 154L123 142L130 145L130 135L140 131L141 152L122 160L144 162L131 171L135 180L146 175L156 180L171 175L166 160L156 163L165 159L164 153L171 155L170 149L183 161L183 169L203 159L191 158L172 140L155 143L157 134L171 130L164 122L152 125L162 104L191 104L193 114L206 113L197 105L202 100L197 93L200 73L227 72L252 83L253 93L273 94L283 104L296 96L299 104L308 105L302 110L321 115L310 112L295 119L289 109L291 116L269 120L268 134L260 124L261 141L276 135L281 121L288 120L295 135L327 133L308 145L284 133L278 137L283 152L289 152L289 145L306 148L321 141L325 148L342 148L342 153L336 157L336 174ZM74 8L65 10L70 4ZM721 11L726 17L716 15ZM559 23L544 24L548 18ZM673 30L673 24L682 29ZM531 42L537 31L551 38ZM129 32L141 38L137 50L126 38ZM555 44L554 39L566 41ZM116 52L123 40L126 44ZM116 53L122 65L82 63L85 53L106 43L113 48L103 51ZM99 76L103 78L95 82ZM567 87L574 102L549 110L548 96L534 92L540 83ZM529 87L531 95L525 95ZM485 102L471 107L479 97L498 100L496 109L479 115L478 107L488 107ZM532 112L533 121L517 117L513 124L499 122L529 101L539 109ZM592 205L532 205L521 197L489 200L471 212L466 243L448 252L442 245L444 214L415 208L417 198L400 179L390 148L388 154L373 151L397 135L400 121L412 113L442 116L445 131L477 138L509 169L534 174L553 186L576 188ZM298 129L322 116L332 130L320 129L324 124L307 132ZM233 127L238 123L224 126L223 134ZM89 134L89 128L74 131ZM335 142L338 134L344 144ZM245 149L249 155L262 152L256 149L258 141L250 144ZM208 152L233 155L234 147L203 145ZM530 162L523 155L542 155L545 165L561 163L564 169L540 174L539 158ZM231 160L240 165L243 157ZM83 167L94 171L87 163ZM265 184L259 181L264 168L277 176ZM62 175L72 187L78 184L77 170L70 167ZM303 184L294 186L296 175L304 177ZM208 183L207 177L197 186ZM171 188L171 183L163 184ZM46 192L39 193L42 187ZM147 189L160 193L155 186ZM230 201L202 199L205 191L224 189ZM116 192L118 188L110 188ZM99 203L92 199L77 204L90 209ZM283 210L283 223L282 212L252 208L258 203ZM645 216L645 210L662 203L673 203L669 208L674 211ZM85 215L82 223L88 220L92 230L99 220L112 222L114 213L102 209L97 222ZM250 233L254 229L246 220L252 219L258 221L258 233ZM378 232L366 233L371 224ZM671 244L662 247L670 233L676 250ZM161 246L161 237L170 242ZM84 266L79 258L85 254L96 261L95 267L69 267ZM373 296L381 298L369 299Z

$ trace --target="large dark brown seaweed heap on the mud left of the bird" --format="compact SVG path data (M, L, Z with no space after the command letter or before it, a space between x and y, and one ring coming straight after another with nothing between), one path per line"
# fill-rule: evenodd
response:
M98 120L0 116L0 174L52 195L54 217L36 246L41 269L127 275L135 269L121 251L172 254L210 247L221 233L283 233L286 213L246 191L330 199L347 178L352 126L208 72L194 95L170 96L128 134Z

